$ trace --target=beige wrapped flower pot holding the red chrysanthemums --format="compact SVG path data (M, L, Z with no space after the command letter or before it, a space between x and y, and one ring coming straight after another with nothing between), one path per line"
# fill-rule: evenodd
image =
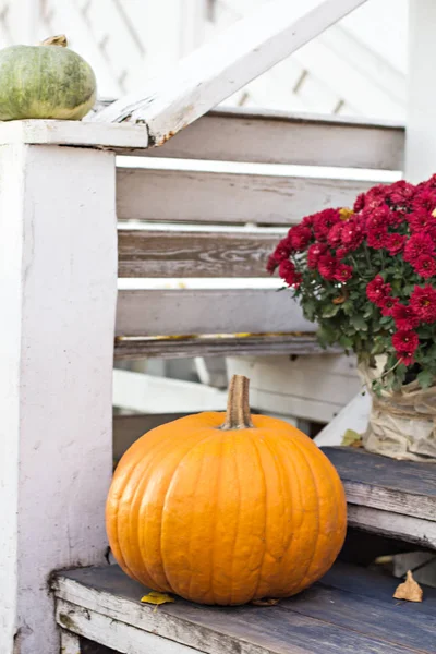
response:
M377 356L376 367L358 366L373 400L364 448L392 459L436 462L436 386L423 389L412 382L400 391L375 395L372 383L383 374L385 362Z

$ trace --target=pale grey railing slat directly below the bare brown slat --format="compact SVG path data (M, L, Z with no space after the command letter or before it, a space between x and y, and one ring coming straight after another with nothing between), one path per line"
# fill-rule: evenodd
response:
M288 292L274 290L120 291L117 336L315 331Z

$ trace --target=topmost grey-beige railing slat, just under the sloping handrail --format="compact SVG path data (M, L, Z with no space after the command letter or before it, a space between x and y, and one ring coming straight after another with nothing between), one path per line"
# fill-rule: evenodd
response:
M210 111L159 148L155 157L402 170L404 129L362 119L279 111Z

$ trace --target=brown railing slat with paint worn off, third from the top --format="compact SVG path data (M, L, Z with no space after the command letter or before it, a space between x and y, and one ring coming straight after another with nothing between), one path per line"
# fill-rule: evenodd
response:
M119 277L266 277L281 237L256 232L120 229Z

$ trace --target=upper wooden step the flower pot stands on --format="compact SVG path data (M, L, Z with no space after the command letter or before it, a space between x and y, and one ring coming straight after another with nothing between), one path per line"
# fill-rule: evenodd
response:
M351 526L436 548L436 464L350 447L323 451L344 484Z

